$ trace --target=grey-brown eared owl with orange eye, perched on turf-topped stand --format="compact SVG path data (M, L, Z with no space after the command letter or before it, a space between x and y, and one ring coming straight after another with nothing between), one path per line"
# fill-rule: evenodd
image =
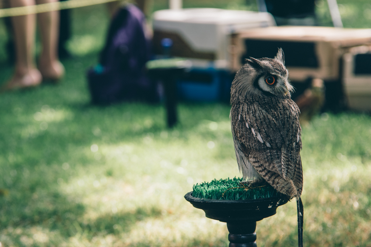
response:
M300 111L290 99L292 91L281 48L273 59L250 57L232 82L230 119L237 163L246 183L268 183L289 199L295 197L300 220L302 142Z

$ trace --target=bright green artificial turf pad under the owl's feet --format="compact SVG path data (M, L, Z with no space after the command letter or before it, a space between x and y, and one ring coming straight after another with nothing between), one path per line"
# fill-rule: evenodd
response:
M192 196L214 200L252 200L277 196L278 192L270 185L261 187L243 186L243 178L214 179L193 186Z

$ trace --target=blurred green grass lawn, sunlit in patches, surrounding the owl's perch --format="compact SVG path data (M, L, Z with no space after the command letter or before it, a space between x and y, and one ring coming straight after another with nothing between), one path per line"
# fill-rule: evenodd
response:
M213 7L256 8L250 2ZM371 27L367 1L338 3L345 26ZM85 71L104 42L102 8L73 10L75 57L62 61L60 84L0 95L0 246L227 246L226 224L183 196L240 176L230 106L181 103L171 130L160 104L91 106ZM0 26L0 84L13 70L5 40ZM302 142L305 246L371 246L371 117L323 113L303 126ZM295 200L279 207L257 223L258 245L297 246L296 220Z

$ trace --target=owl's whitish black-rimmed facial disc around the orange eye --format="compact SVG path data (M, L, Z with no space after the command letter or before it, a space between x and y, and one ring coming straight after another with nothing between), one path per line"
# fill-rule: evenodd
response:
M276 74L264 74L258 80L258 86L261 90L272 93L276 96L291 96L293 87L288 82L288 78L280 77Z

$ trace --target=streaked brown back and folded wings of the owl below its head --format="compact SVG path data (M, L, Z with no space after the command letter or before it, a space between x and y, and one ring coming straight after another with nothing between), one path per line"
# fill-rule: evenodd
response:
M299 113L288 97L235 101L230 113L235 146L260 176L290 197L300 195L303 186Z

